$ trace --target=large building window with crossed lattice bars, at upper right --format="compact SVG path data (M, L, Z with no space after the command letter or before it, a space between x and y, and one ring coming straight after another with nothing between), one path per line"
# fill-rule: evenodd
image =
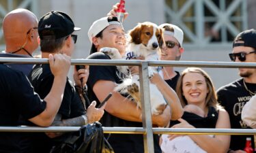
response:
M247 29L244 0L165 0L166 21L184 31L184 42L197 46L229 44Z

